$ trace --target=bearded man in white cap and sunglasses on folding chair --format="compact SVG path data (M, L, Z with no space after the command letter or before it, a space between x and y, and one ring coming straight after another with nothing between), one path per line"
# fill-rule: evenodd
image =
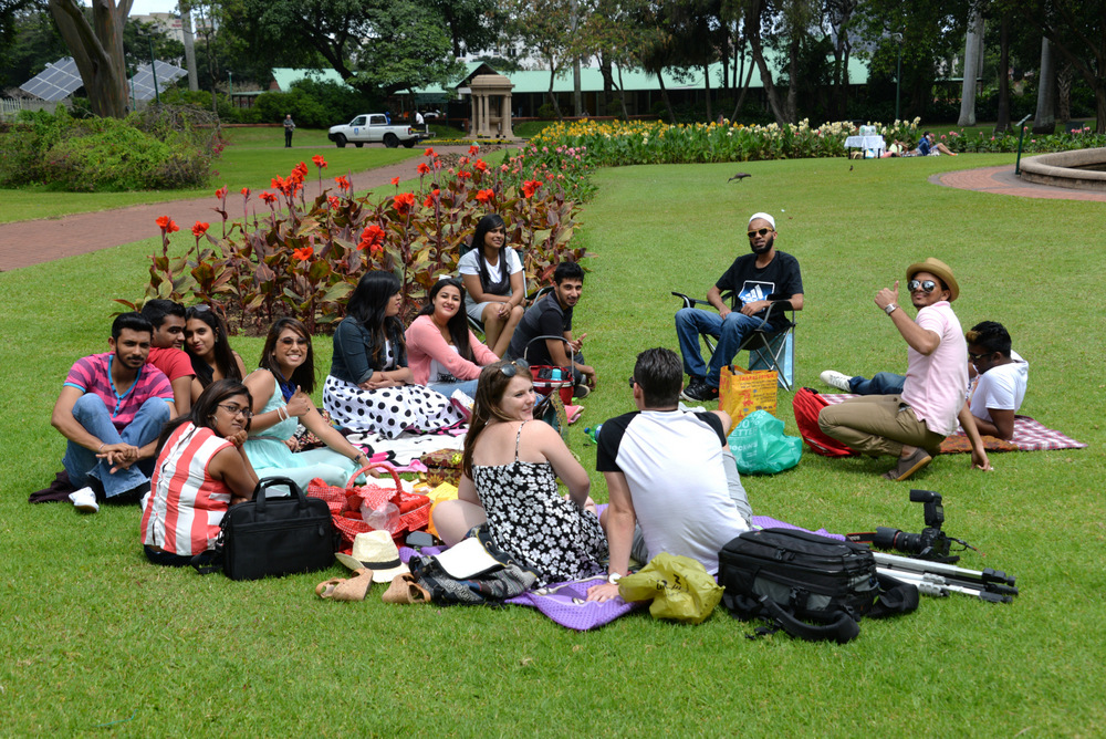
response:
M685 308L676 313L676 334L684 355L684 371L690 382L681 393L686 400L717 400L719 374L729 364L742 342L759 327L769 305L790 301L803 310L803 275L799 260L775 249L775 219L769 214L753 214L749 219L751 254L733 260L730 269L707 292L707 302L718 313ZM731 309L722 301L723 292L734 294ZM779 313L783 320L783 312ZM703 362L699 334L718 340L710 364Z

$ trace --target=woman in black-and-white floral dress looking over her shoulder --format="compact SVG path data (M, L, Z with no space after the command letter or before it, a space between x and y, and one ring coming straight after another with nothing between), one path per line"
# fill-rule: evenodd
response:
M606 572L607 539L587 497L587 472L561 435L533 420L534 388L525 362L497 362L480 373L457 500L439 503L434 525L452 547L488 523L497 547L542 582ZM568 488L557 492L557 478Z

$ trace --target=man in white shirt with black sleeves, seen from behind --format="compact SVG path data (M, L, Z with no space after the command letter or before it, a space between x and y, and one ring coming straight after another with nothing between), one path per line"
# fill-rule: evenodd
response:
M682 381L671 350L638 354L630 378L638 409L604 423L596 439L595 467L611 497L602 517L611 564L607 584L589 589L589 601L618 594L632 554L639 562L661 552L690 556L714 574L718 551L750 528L752 510L726 439L730 416L680 410Z

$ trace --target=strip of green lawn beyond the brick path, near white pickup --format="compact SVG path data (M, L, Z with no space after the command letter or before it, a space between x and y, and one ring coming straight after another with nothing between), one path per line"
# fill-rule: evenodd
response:
M305 162L315 176L311 157L322 154L327 167L324 175L336 177L348 173L365 171L413 156L421 156L421 148L388 149L379 145L363 148L337 148L326 139L325 131L296 129L293 148L284 148L281 128L231 128L229 145L211 167L207 187L150 192L60 192L49 187L0 189L0 223L31 218L61 218L71 214L124 208L145 202L166 202L184 198L199 198L226 185L231 192L243 187L260 191L269 187L276 176L288 176L292 167ZM309 177L309 178L310 178Z

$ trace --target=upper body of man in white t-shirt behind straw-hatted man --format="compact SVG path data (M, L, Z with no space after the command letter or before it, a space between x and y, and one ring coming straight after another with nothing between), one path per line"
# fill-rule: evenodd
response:
M968 358L977 372L974 386L968 393L975 426L980 434L1011 439L1014 414L1025 398L1030 365L1010 348L1010 334L1001 323L977 323L964 337Z

